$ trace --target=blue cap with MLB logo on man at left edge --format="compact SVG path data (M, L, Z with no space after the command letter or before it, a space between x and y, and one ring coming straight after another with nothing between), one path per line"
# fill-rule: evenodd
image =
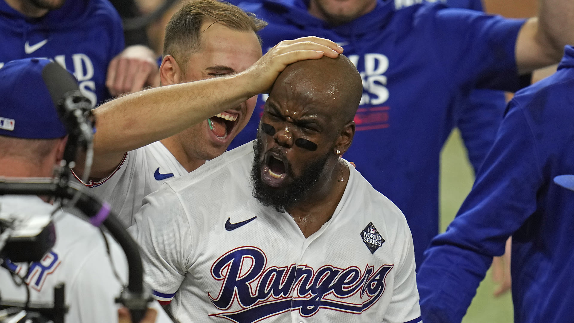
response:
M0 135L55 139L67 132L42 78L48 59L13 60L0 68Z

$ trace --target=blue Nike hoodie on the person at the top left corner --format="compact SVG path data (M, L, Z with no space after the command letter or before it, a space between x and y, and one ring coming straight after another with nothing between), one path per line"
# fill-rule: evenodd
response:
M76 76L92 106L110 98L108 63L123 50L122 22L107 0L67 0L30 18L0 0L0 67L10 60L46 57Z

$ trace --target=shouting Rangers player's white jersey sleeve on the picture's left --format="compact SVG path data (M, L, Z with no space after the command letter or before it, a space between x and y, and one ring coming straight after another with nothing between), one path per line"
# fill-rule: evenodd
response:
M165 305L179 289L191 266L192 231L184 206L164 185L144 199L130 233L142 248L145 281Z

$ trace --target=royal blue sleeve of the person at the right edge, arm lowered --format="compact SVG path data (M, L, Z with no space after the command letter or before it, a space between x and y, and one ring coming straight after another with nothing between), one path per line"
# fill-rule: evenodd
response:
M432 240L417 275L423 321L460 322L506 239L536 210L542 175L536 141L511 101L474 187L447 232Z

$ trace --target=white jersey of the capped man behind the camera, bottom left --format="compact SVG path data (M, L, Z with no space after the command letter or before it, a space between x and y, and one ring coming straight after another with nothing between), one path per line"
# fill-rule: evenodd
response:
M0 197L0 213L18 218L49 214L54 206L34 196ZM53 306L54 287L65 283L65 302L69 311L66 322L117 322L118 305L115 297L122 283L115 277L106 245L98 228L72 214L58 212L54 217L56 244L40 262L30 266L6 262L6 267L25 279L30 287L30 302ZM121 247L108 237L114 266L123 281L127 281L127 260ZM25 286L17 286L6 268L0 267L0 293L3 301L26 300ZM155 302L156 322L171 322Z

